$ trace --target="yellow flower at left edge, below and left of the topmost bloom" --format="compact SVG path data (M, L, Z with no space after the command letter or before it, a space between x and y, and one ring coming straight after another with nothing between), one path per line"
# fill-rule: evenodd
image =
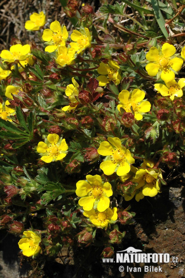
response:
M15 44L10 47L10 51L2 50L0 53L0 57L4 59L4 62L12 63L16 60L22 61L26 60L30 52L29 44L21 45Z

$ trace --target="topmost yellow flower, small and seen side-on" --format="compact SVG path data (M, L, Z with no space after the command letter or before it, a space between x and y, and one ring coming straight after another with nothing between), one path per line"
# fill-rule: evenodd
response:
M25 22L25 29L30 31L37 31L45 24L45 15L41 13L33 13L30 16L30 20Z

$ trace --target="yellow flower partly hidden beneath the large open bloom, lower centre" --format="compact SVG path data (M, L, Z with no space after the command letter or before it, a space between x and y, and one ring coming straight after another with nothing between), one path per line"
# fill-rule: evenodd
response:
M83 215L88 217L93 225L101 228L107 227L108 223L116 221L118 219L117 208L107 208L103 212L97 210L84 211Z

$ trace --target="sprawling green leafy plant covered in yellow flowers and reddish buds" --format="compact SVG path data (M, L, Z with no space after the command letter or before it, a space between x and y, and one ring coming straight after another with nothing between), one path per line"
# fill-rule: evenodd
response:
M38 271L62 248L113 257L185 150L183 1L61 4L0 52L0 228Z

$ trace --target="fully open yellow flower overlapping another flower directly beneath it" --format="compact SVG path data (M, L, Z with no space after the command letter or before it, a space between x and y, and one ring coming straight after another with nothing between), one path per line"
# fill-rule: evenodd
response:
M77 182L76 195L82 197L79 199L79 205L89 211L95 204L95 208L97 207L99 212L103 212L110 204L108 197L112 196L111 184L103 183L99 175L87 175L86 179L87 181L79 180Z

